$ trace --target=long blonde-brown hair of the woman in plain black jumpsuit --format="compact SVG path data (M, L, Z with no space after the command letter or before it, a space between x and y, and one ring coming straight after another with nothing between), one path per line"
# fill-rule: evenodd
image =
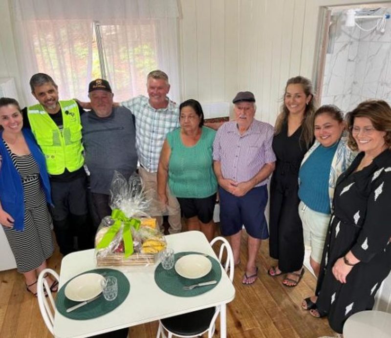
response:
M282 98L282 106L281 106L281 113L277 117L276 126L274 127L274 134L278 135L281 132L282 125L287 122L289 110L285 106L285 95L286 95L286 88L289 84L301 84L303 87L303 91L306 97L311 95L311 100L309 100L308 104L305 106L304 110L304 119L302 122L302 133L300 135L300 139L304 140L305 145L307 148L312 144L314 140L314 126L313 126L313 115L316 110L315 105L315 93L312 86L311 80L304 78L303 76L296 76L294 78L290 78L286 82L285 86L285 92Z

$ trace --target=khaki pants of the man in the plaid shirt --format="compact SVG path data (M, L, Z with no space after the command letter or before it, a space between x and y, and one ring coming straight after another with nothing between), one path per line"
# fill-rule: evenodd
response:
M144 168L139 167L138 173L140 174L140 177L144 182L144 186L145 186L146 190L148 190L148 189L157 190L157 173L156 172L148 172ZM182 224L180 222L180 206L179 206L178 200L171 194L168 185L166 187L166 194L167 194L169 207L178 211L174 215L168 216L168 222L170 224L169 232L170 233L181 232ZM157 195L157 193L156 193L156 195ZM163 230L164 230L163 229L163 217L157 216L156 220L157 220L157 223L159 225L160 230L163 232Z

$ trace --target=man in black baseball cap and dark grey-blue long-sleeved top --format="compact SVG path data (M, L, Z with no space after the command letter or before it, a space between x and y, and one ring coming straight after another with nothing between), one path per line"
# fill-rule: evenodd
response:
M137 168L134 116L128 108L113 106L113 96L108 81L91 81L88 97L92 110L82 116L95 227L111 214L109 189L114 170L128 179Z

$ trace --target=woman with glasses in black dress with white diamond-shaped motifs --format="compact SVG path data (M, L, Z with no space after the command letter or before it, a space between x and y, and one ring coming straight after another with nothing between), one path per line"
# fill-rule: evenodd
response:
M361 152L338 178L318 299L306 304L338 333L348 317L372 309L391 271L391 107L363 102L348 114L348 127L350 148Z

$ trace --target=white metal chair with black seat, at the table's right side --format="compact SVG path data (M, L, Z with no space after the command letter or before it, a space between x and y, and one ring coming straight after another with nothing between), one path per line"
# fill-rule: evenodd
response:
M224 237L216 237L211 241L211 246L215 243L220 242L220 249L217 255L220 262L222 263L224 271L229 272L229 279L234 278L234 254L228 241ZM215 322L217 316L220 314L220 306L213 308L207 308L187 314L169 317L159 320L159 327L157 329L156 338L166 338L165 331L168 333L168 338L172 338L173 335L176 337L197 337L208 332L208 338L212 338L215 333Z

